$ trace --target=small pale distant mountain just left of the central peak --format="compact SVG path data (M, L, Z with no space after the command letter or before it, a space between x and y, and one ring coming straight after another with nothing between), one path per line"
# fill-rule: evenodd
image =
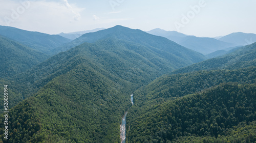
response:
M72 33L60 33L58 35L62 36L62 37L65 37L65 38L68 38L68 39L71 39L71 40L74 40L80 36L82 36L83 34L86 34L86 33L91 33L91 32L97 32L97 31L100 31L100 30L104 30L105 28L96 28L94 30L88 30L88 31L80 31L80 32L72 32Z

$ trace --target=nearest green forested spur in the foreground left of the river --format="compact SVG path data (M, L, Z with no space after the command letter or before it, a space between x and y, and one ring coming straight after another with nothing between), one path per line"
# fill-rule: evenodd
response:
M131 106L131 91L117 91L115 85L94 69L77 65L10 110L10 133L18 133L10 135L10 140L119 142L119 124Z

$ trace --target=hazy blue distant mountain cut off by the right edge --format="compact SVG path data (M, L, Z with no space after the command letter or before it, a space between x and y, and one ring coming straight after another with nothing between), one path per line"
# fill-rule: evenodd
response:
M244 46L256 42L256 34L237 32L226 35L219 40Z

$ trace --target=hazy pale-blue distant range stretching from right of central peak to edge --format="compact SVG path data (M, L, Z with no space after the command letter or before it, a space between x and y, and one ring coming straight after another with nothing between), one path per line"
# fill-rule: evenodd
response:
M166 37L184 47L193 49L203 54L209 54L217 50L225 50L236 46L244 46L256 42L256 34L232 33L220 39L188 36L175 31L164 31L160 28L148 31L147 33Z

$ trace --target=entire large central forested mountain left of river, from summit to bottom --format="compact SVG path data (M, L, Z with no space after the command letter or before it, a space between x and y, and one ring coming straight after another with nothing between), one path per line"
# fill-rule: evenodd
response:
M9 141L120 142L120 120L133 91L204 59L166 38L122 26L80 38L90 43L11 78L25 100L10 109Z

